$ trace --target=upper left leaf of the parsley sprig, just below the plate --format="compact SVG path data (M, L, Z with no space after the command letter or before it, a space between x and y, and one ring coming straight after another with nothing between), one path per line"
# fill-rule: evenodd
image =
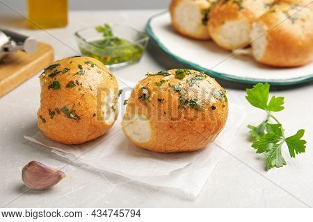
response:
M257 83L257 85L255 85L252 89L246 89L246 99L256 108L266 110L269 87L270 85L268 83Z

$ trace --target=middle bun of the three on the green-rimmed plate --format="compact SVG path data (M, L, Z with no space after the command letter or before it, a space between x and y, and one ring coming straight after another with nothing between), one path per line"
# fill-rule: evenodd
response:
M240 49L250 43L252 22L266 12L273 0L220 0L209 13L211 38L223 49Z

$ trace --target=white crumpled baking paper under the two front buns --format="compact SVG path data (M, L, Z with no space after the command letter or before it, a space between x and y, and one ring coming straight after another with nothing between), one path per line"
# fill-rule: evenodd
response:
M181 189L186 194L198 196L245 117L245 108L230 103L227 123L220 135L206 148L191 153L154 153L138 148L122 133L122 113L109 133L86 144L69 146L54 142L41 131L24 137L51 148L56 155L97 171L115 173L155 187Z

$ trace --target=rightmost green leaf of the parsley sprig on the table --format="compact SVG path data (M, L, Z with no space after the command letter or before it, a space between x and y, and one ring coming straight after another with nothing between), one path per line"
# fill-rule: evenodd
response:
M298 130L298 132L291 136L287 137L285 141L289 149L291 157L296 157L296 154L305 153L305 144L307 143L304 139L301 139L305 133L305 130Z

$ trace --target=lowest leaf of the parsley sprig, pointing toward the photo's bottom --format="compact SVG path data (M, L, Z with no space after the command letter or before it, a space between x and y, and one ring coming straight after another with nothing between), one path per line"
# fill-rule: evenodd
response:
M284 165L286 165L286 161L282 156L282 143L274 144L273 148L266 153L266 169L269 170L272 167L284 167Z

